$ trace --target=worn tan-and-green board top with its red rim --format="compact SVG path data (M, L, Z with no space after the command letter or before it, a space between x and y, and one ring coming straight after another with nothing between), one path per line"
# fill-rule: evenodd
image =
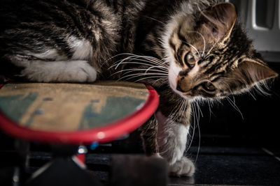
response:
M104 142L135 130L157 107L158 94L144 84L5 84L0 127L31 141Z

